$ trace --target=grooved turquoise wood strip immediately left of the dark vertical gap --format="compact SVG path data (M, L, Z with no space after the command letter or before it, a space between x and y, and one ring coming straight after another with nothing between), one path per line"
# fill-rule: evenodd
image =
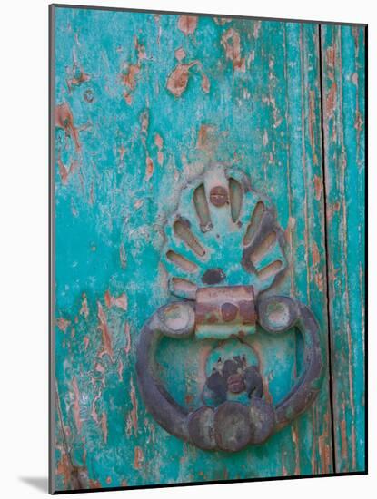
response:
M311 417L300 421L297 432L310 445L310 454L303 452L301 457L304 469L311 470L306 473L321 474L331 473L333 468L327 357L319 29L317 25L303 24L295 37L289 28L287 32L291 294L309 305L320 323L326 371L320 396L311 409ZM301 438L297 440L299 445L303 445Z

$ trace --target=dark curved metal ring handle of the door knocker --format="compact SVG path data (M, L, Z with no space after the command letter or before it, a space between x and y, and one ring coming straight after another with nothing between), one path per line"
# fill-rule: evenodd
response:
M253 295L253 289L250 292ZM166 392L154 371L154 352L163 336L188 338L195 334L198 316L201 319L201 307L195 303L176 301L159 308L141 333L136 369L145 406L167 432L201 449L235 452L246 445L262 444L301 415L321 386L322 353L318 325L310 309L287 297L265 298L256 303L250 299L243 306L249 320L257 320L269 334L297 327L303 335L303 374L276 406L251 396L248 406L225 401L216 408L201 406L189 412Z

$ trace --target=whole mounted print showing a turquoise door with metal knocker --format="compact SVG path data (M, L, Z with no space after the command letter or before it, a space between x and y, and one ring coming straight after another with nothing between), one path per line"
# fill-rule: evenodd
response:
M50 492L366 473L366 26L50 35Z

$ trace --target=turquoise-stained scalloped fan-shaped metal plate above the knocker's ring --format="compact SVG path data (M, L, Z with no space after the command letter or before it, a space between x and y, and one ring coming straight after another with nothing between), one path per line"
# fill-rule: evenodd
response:
M287 267L271 201L239 170L213 167L188 184L165 228L171 292L195 299L206 286L270 288Z

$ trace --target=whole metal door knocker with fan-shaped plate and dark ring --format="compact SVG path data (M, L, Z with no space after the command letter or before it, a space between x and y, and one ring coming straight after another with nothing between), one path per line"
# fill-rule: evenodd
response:
M294 298L263 298L287 267L273 206L241 171L213 167L183 190L166 236L169 286L184 299L159 308L142 329L136 371L144 404L167 432L201 449L236 452L262 444L312 405L323 364L311 310ZM262 376L244 355L217 359L196 410L167 393L154 368L160 338L226 343L253 334L257 324L270 335L298 328L303 337L303 372L278 404L263 398Z

